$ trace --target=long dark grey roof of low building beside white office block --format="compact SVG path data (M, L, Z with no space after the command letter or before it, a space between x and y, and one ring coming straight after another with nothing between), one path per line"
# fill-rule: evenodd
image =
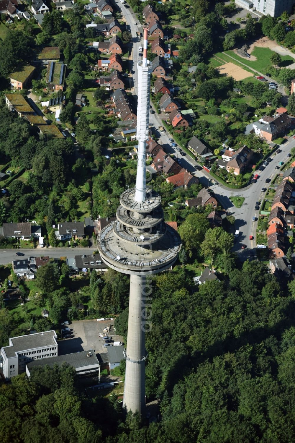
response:
M29 370L37 366L61 366L63 363L73 366L76 370L85 368L85 366L99 366L99 361L93 349L89 351L74 352L73 354L57 355L56 357L41 358L27 363ZM91 369L91 368L89 368ZM94 368L93 368L94 369ZM86 369L87 370L87 369Z

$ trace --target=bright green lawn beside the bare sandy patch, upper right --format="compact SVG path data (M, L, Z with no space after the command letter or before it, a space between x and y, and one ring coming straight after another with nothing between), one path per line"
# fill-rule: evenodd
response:
M240 57L238 54L235 54L234 51L225 51L225 53L229 54L231 57L234 57L236 60L245 63L245 65L256 69L262 74L265 74L268 70L268 67L272 65L270 58L272 54L275 54L275 52L269 48L254 47L252 55L254 55L257 60L251 61L251 58ZM294 58L290 57L290 55L284 55L281 56L281 58L283 67L287 67L288 65L291 65L291 63L295 62Z

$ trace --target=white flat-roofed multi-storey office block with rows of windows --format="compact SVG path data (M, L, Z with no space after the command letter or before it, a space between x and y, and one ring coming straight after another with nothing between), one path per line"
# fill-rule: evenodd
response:
M57 355L57 346L54 330L9 338L9 345L0 350L5 380L25 372L29 361Z

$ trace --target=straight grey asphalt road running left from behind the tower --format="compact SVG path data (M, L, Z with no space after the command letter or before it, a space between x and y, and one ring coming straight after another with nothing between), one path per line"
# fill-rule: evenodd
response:
M0 249L0 264L11 263L12 260L28 258L28 257L40 257L49 256L49 258L68 257L74 258L75 255L92 254L95 249L93 248L38 248L38 249ZM16 253L22 253L23 256L17 256Z

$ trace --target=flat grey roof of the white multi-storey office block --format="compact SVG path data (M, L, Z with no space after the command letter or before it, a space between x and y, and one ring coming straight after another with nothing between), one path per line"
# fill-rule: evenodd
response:
M15 357L16 352L23 352L30 349L41 348L43 346L57 346L56 332L54 330L39 332L38 334L21 335L10 338L13 346L3 348L7 357Z

